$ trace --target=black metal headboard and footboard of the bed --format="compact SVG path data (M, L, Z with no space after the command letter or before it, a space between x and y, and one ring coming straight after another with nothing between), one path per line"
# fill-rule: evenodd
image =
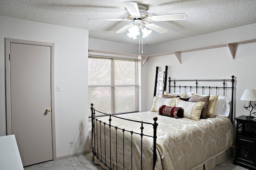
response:
M219 80L198 80L198 79L196 79L196 80L171 80L171 78L169 77L169 80L168 80L168 82L169 82L169 89L168 89L168 91L169 91L169 93L171 92L171 88L173 88L174 89L174 93L176 92L176 88L178 88L179 89L179 92L181 92L181 89L182 88L184 88L184 91L186 91L186 88L189 88L190 89L190 92L191 92L191 90L192 89L196 89L196 93L198 92L198 89L199 88L201 88L202 89L202 92L203 92L203 94L204 94L204 91L205 91L205 88L208 88L208 90L209 90L209 95L210 95L210 90L211 89L216 89L216 94L217 94L217 91L218 91L218 89L222 89L223 90L223 96L225 96L225 91L227 90L227 89L230 89L231 90L231 106L230 106L230 113L231 113L231 122L233 123L233 117L234 117L234 81L235 81L235 79L234 79L234 76L231 76L232 77L232 79L219 79ZM195 82L195 86L176 86L176 82ZM199 82L220 82L220 81L222 81L223 82L223 86L198 86L198 84L199 84ZM173 82L173 84L174 85L171 85L171 82ZM226 82L231 82L231 84L232 84L232 86L226 86ZM142 170L142 140L143 140L143 137L144 136L147 136L147 137L152 137L153 138L153 170L154 170L154 168L155 168L155 165L156 165L156 138L157 138L157 136L156 136L156 129L157 129L157 126L158 126L158 123L156 123L156 121L157 121L157 117L154 117L154 123L149 123L149 122L143 122L143 121L135 121L135 120L130 120L130 119L125 119L125 118L122 118L122 117L118 117L118 116L115 116L115 115L111 115L111 114L107 114L107 113L103 113L104 115L106 115L106 116L109 116L109 119L108 119L108 121L109 121L109 123L106 123L106 122L102 122L101 120L99 120L99 119L97 119L96 117L95 117L95 111L97 111L97 112L99 112L99 113L102 113L102 112L100 112L100 111L98 111L98 110L96 110L96 109L94 109L94 107L93 107L93 104L91 104L91 111L92 111L92 131L91 131L91 137L92 137L92 139L94 139L94 145L92 145L92 154L94 155L94 156L96 156L96 158L98 159L98 160L100 160L100 162L101 163L103 163L104 164L104 166L106 166L107 168L109 168L110 170L112 170L112 163L111 163L111 142L110 142L110 165L108 166L107 165L107 163L106 163L106 128L109 128L109 138L111 139L111 128L114 128L115 130L116 130L116 162L117 162L117 158L118 158L118 155L117 155L117 129L120 129L120 130L122 130L122 132L123 132L123 167L124 167L124 133L125 132L128 132L128 133L130 133L131 134L131 150L130 150L130 152L131 152L131 168L132 168L132 135L140 135L140 137L141 137L141 156L140 156L140 162L141 162L141 170ZM116 117L116 118L118 118L118 119L124 119L124 120L126 120L126 121L132 121L132 122L136 122L136 123L141 123L141 127L140 127L140 131L141 131L141 133L136 133L136 132L134 132L134 131L128 131L128 130L126 130L126 129L121 129L121 128L119 128L119 127L117 127L117 126L113 126L111 123L111 121L112 121L112 119L111 119L111 117ZM102 132L102 129L101 129L101 126L99 127L100 128L100 134L98 134L98 123L97 122L99 122L100 123L100 125L101 125L101 123L103 123L103 125L104 125L104 131ZM143 133L143 129L144 129L144 127L143 127L143 125L144 124L149 124L149 125L152 125L153 126L153 136L152 135L146 135L146 134L144 134ZM95 127L95 125L96 125L96 127ZM95 131L96 131L96 134L95 134ZM104 143L102 144L102 133L104 133L103 135L104 135ZM101 145L100 146L98 146L98 137L100 137L100 143L102 144L102 145L104 145L104 148L105 148L105 150L103 150L102 151L102 147L101 147ZM97 145L96 145L96 143L95 143L95 138L97 138ZM93 141L93 140L92 140ZM97 152L95 152L97 150ZM100 156L99 156L99 152L100 151ZM104 160L102 160L102 153L103 152L105 152L105 159Z

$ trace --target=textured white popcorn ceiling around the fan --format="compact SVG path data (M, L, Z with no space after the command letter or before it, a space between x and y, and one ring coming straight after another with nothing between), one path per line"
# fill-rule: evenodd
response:
M125 0L124 0L125 1ZM126 0L128 1L128 0ZM128 21L95 21L89 18L126 18L122 0L0 0L0 15L89 30L89 38L138 44L138 39L115 33ZM176 39L256 23L256 0L138 0L150 16L185 13L187 20L158 21L168 29L152 31L143 39L154 45ZM236 36L236 35L234 35Z

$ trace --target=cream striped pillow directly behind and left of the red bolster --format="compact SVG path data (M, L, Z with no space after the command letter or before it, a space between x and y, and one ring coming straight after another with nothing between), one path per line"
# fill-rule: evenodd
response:
M152 112L158 112L158 109L162 105L175 106L177 98L159 98L157 96L153 99L153 105L151 107Z

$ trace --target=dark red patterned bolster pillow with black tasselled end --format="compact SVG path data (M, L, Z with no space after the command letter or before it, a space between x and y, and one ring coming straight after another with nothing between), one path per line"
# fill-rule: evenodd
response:
M184 109L182 107L162 105L159 107L158 114L163 116L174 117L177 119L184 117Z

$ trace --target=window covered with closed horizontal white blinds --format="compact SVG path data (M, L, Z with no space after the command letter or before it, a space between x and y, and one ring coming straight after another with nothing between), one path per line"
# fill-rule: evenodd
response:
M138 111L138 60L89 57L88 103L89 117L91 103L108 114Z

